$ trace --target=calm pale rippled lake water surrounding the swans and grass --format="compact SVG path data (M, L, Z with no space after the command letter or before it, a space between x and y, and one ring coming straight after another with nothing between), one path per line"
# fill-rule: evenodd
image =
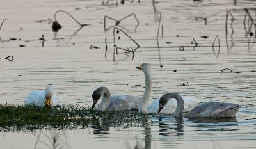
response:
M65 148L134 148L136 142L140 148L256 148L255 6L249 0L1 0L0 21L7 19L0 31L1 104L23 104L30 90L49 83L60 104L90 107L99 86L113 95L142 96L145 79L135 67L147 62L152 65L152 100L177 91L202 101L242 105L232 119L148 115L148 123L138 127L1 132L1 148L52 148L52 136ZM244 8L254 19L247 15L245 25ZM236 19L232 22L229 15L227 34L226 9ZM57 10L91 25L77 31L79 24L59 12L62 28L54 34L49 19L54 21ZM119 20L131 13L139 24L132 15L116 27L140 47L116 53L114 35L117 47L134 49L136 44L122 31L113 34L114 20L107 18L104 30L104 15ZM38 40L42 35L44 47ZM214 42L217 35L220 43ZM4 59L10 55L13 61Z

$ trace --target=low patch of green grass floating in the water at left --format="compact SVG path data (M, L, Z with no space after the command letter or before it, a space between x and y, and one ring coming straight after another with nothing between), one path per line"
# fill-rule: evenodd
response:
M132 127L143 123L137 111L93 111L74 105L38 107L0 104L0 131Z

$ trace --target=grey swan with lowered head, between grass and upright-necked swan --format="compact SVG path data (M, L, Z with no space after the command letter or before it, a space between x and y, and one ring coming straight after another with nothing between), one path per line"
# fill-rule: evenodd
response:
M103 96L103 97L102 97ZM95 107L97 101L102 97L99 106ZM131 95L110 95L110 91L106 87L99 87L92 94L92 109L99 111L125 111L137 109L141 97Z

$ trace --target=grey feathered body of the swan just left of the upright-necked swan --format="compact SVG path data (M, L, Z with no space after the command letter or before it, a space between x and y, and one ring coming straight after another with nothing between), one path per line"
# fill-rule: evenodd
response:
M131 95L115 95L111 97L111 102L108 107L109 111L124 111L138 109L141 97Z

